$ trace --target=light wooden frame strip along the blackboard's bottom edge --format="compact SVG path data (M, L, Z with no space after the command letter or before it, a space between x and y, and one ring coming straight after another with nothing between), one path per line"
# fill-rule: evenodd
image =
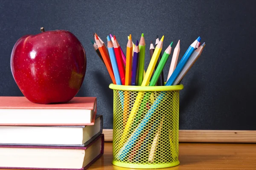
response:
M112 142L113 130L103 133L105 142ZM256 143L256 130L179 130L179 142Z

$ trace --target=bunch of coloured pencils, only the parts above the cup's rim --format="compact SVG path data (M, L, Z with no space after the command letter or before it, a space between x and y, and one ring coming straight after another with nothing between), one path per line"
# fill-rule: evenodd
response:
M168 46L165 53L162 55L163 38L159 40L158 36L155 41L150 43L150 63L145 72L145 38L144 34L141 35L140 41L136 44L132 41L131 34L128 36L128 43L126 46L126 56L116 39L116 36L111 34L107 37L107 46L102 39L94 33L95 42L93 48L96 54L106 66L108 73L112 79L113 84L116 85L139 85L139 86L152 86L154 85L178 85L194 65L195 61L200 57L205 43L200 45L201 37L198 37L188 48L182 59L177 65L177 60L180 54L180 40L177 42L172 54L172 61L169 67L169 73L164 84L163 68L172 51L172 44ZM167 55L168 54L168 55ZM177 67L176 67L177 66ZM151 82L149 84L149 81ZM144 83L143 83L144 82Z

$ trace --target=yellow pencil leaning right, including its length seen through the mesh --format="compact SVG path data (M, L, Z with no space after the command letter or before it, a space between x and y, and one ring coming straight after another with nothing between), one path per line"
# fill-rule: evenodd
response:
M164 38L164 36L161 38L160 42L157 44L157 46L156 46L156 48L154 50L154 54L151 57L150 63L148 65L148 69L146 71L146 74L145 74L145 77L143 79L143 82L141 83L141 86L147 86L148 83L149 83L149 80L150 80L151 75L153 73L154 67L155 67L155 65L157 63L157 59L158 59L158 57L160 55L160 52L161 52L161 50L163 48L163 38ZM134 118L135 118L135 116L136 116L136 114L137 114L137 112L138 112L138 110L140 108L140 103L141 103L141 101L143 99L143 96L144 96L144 92L139 91L139 93L138 93L138 95L137 95L137 97L135 99L134 105L133 105L133 107L131 109L131 113L130 113L130 115L128 117L128 120L126 122L125 129L124 129L124 131L122 133L122 138L120 140L121 147L122 147L123 144L125 144L125 142L127 140L127 136L129 134L128 132L129 132L129 130L131 128L131 125L133 124Z

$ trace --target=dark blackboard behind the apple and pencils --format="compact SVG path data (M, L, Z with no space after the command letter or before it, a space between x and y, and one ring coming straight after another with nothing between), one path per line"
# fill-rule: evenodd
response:
M182 81L180 129L256 130L255 7L255 0L0 0L0 96L23 96L10 69L12 47L20 37L38 34L42 26L69 30L87 54L77 96L96 96L104 128L111 129L111 79L91 45L93 32L103 40L115 34L123 49L129 34L135 41L144 33L146 67L150 40L157 34L165 35L164 50L180 39L180 58L201 36L204 51Z

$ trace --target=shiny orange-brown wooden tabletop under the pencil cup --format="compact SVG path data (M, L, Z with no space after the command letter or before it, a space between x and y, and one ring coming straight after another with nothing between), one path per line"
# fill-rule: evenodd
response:
M256 170L256 144L180 143L179 147L180 165L162 170ZM112 142L105 142L104 155L88 170L131 170L112 165L112 157Z

